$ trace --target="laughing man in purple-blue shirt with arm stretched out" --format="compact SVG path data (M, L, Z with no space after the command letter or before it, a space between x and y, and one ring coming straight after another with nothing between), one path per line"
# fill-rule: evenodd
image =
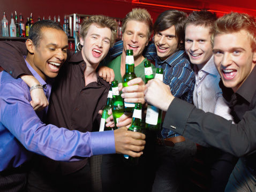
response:
M54 21L43 20L32 26L26 47L26 64L39 84L29 89L21 78L13 79L5 71L0 73L0 89L5 90L0 91L0 191L24 188L25 165L31 159L32 152L70 162L115 152L129 153L134 157L141 155L139 151L144 149L145 135L128 132L125 128L80 133L43 124L47 107L35 112L29 103L29 92L41 89L49 99L51 78L57 76L67 58L67 36Z

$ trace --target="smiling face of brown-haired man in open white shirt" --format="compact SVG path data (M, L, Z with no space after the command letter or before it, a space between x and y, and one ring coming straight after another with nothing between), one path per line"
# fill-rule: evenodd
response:
M190 57L190 62L202 67L213 56L212 45L210 44L209 28L189 24L185 29L185 50Z

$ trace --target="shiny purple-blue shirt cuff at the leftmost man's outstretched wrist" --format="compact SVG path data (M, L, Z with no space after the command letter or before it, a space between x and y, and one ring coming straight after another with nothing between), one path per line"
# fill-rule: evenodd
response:
M91 133L93 155L116 153L114 130Z

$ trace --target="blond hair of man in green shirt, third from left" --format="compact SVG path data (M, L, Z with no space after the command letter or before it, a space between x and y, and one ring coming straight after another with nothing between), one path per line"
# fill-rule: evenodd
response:
M150 36L152 35L152 31L153 31L153 21L152 21L150 14L148 13L148 11L146 9L134 8L134 9L132 9L131 12L126 14L126 16L123 20L123 23L122 23L122 33L123 34L125 32L127 22L131 21L131 20L146 23L146 25L148 26L147 37L149 40Z

